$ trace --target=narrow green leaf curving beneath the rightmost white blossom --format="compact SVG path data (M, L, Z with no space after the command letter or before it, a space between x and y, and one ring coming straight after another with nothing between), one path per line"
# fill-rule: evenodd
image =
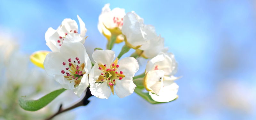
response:
M136 88L134 89L134 92L136 92L138 95L140 95L143 99L147 100L147 101L148 101L149 103L151 103L151 104L166 103L166 102L157 102L157 101L153 100L153 99L151 98L151 96L149 95L149 92L143 92L143 91L142 91L143 89L144 89L144 88L142 88L142 87L136 87ZM178 99L178 97L177 97L176 99ZM174 100L176 100L176 99L174 99ZM172 101L173 101L173 100L172 100ZM171 102L171 101L169 101L169 102Z

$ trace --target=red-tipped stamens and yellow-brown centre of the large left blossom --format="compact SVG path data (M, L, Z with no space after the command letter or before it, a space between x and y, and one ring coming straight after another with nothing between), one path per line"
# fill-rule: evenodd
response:
M82 77L86 73L84 72L84 63L80 64L80 60L77 57L73 62L71 58L69 58L68 62L69 63L67 65L65 62L62 63L64 66L68 66L68 68L61 70L61 73L66 74L64 75L64 78L69 80L70 83L75 82L74 86L77 87L80 84Z

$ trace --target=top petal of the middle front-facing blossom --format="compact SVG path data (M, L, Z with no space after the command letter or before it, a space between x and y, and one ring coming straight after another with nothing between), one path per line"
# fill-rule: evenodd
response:
M110 66L115 58L115 52L111 50L95 51L92 53L92 58L98 64Z

